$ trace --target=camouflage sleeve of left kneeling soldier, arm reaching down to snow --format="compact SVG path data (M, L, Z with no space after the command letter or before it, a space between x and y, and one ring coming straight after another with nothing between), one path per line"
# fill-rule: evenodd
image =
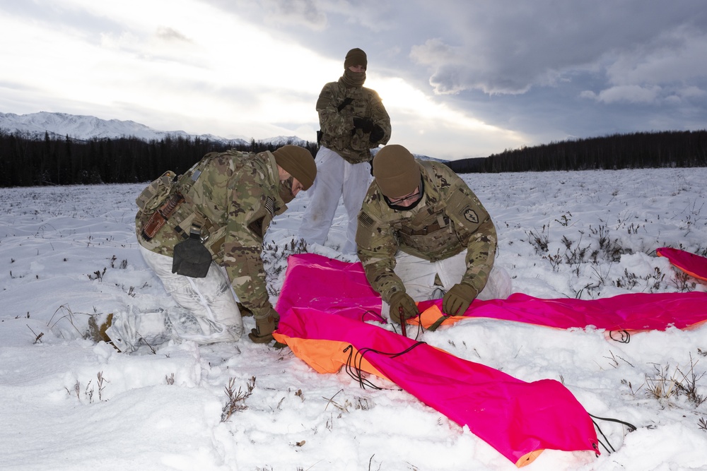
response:
M223 266L240 302L256 317L271 309L262 261L261 227L267 209L262 190L262 176L252 167L234 174L228 205L226 239L223 242Z

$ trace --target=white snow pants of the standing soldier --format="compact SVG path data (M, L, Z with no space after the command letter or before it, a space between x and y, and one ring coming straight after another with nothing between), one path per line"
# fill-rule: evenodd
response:
M356 228L358 211L368 186L373 181L370 164L350 164L333 150L321 147L315 158L317 178L309 189L310 203L302 218L299 237L308 244L324 245L332 227L334 213L339 206L339 199L344 197L344 208L349 216L346 228L346 244L341 247L344 254L356 253Z

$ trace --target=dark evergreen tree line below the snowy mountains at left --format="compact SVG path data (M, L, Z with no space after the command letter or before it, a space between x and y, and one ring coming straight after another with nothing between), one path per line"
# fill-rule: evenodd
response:
M184 173L209 152L235 148L257 153L278 147L255 139L239 144L182 136L159 141L133 137L82 141L45 133L38 140L0 131L0 187L152 181L167 170ZM316 153L315 143L305 147L312 156Z

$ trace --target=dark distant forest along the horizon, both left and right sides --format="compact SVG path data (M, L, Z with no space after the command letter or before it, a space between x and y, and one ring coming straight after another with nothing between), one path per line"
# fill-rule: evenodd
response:
M236 148L275 150L272 143L228 145L201 138L166 137L37 140L0 130L0 187L151 181L166 170L185 172L206 153ZM306 143L312 155L315 143ZM616 134L506 150L447 162L457 173L706 167L707 131Z

